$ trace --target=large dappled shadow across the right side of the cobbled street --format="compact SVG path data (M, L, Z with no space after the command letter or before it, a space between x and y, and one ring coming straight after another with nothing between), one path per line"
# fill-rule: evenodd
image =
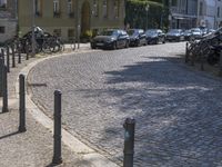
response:
M102 137L94 137L94 145L122 159L121 124L134 117L135 166L222 165L221 82L180 69L167 58L149 57L105 71L101 89L80 90L85 99L99 97L99 105L108 109L102 119L109 127L98 132Z

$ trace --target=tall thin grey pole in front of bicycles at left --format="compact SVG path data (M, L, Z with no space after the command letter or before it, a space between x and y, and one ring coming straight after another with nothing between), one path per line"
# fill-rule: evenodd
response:
M34 0L32 0L32 29L31 29L31 51L32 51L32 57L36 56L36 39L34 39L34 24L36 24L36 21L34 21L34 16L36 16L36 3L34 3Z

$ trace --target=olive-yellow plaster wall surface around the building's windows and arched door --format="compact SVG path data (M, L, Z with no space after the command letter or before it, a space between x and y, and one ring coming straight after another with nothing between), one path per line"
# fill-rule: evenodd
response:
M74 17L69 18L67 10L67 0L60 0L60 18L53 18L53 0L42 0L42 16L34 17L34 24L43 28L50 33L53 33L54 29L61 29L61 37L68 39L68 30L77 29L77 24L81 26L81 10L83 2L90 3L90 29L104 29L104 28L123 28L124 24L124 0L120 0L120 13L119 18L114 19L111 17L113 14L113 8L109 4L113 0L108 0L108 18L102 16L102 0L99 0L99 17L92 14L93 1L92 0L73 0ZM23 36L31 30L32 27L32 0L19 0L18 3L18 20L19 20L19 31ZM77 10L79 11L77 13Z

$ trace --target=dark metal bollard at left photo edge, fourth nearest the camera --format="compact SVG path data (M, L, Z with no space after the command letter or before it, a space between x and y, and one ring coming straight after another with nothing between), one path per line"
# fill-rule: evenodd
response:
M7 66L3 66L3 79L2 79L2 87L3 87L3 99L2 99L2 112L8 112L8 76L7 76Z

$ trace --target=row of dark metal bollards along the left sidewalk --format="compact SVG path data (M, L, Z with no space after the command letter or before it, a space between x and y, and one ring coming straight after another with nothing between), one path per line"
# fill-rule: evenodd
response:
M12 51L12 67L16 67L14 52ZM28 57L27 57L28 58ZM18 59L20 63L20 58ZM10 71L9 62L9 49L7 49L7 66L4 65L3 53L0 56L0 95L2 99L2 112L8 112L8 72ZM54 91L54 130L53 130L53 158L52 165L59 165L62 163L61 154L61 91ZM134 154L134 126L135 120L132 118L127 118L124 127L124 158L123 167L133 167L133 154ZM27 131L26 127L26 77L24 75L19 76L19 132Z

